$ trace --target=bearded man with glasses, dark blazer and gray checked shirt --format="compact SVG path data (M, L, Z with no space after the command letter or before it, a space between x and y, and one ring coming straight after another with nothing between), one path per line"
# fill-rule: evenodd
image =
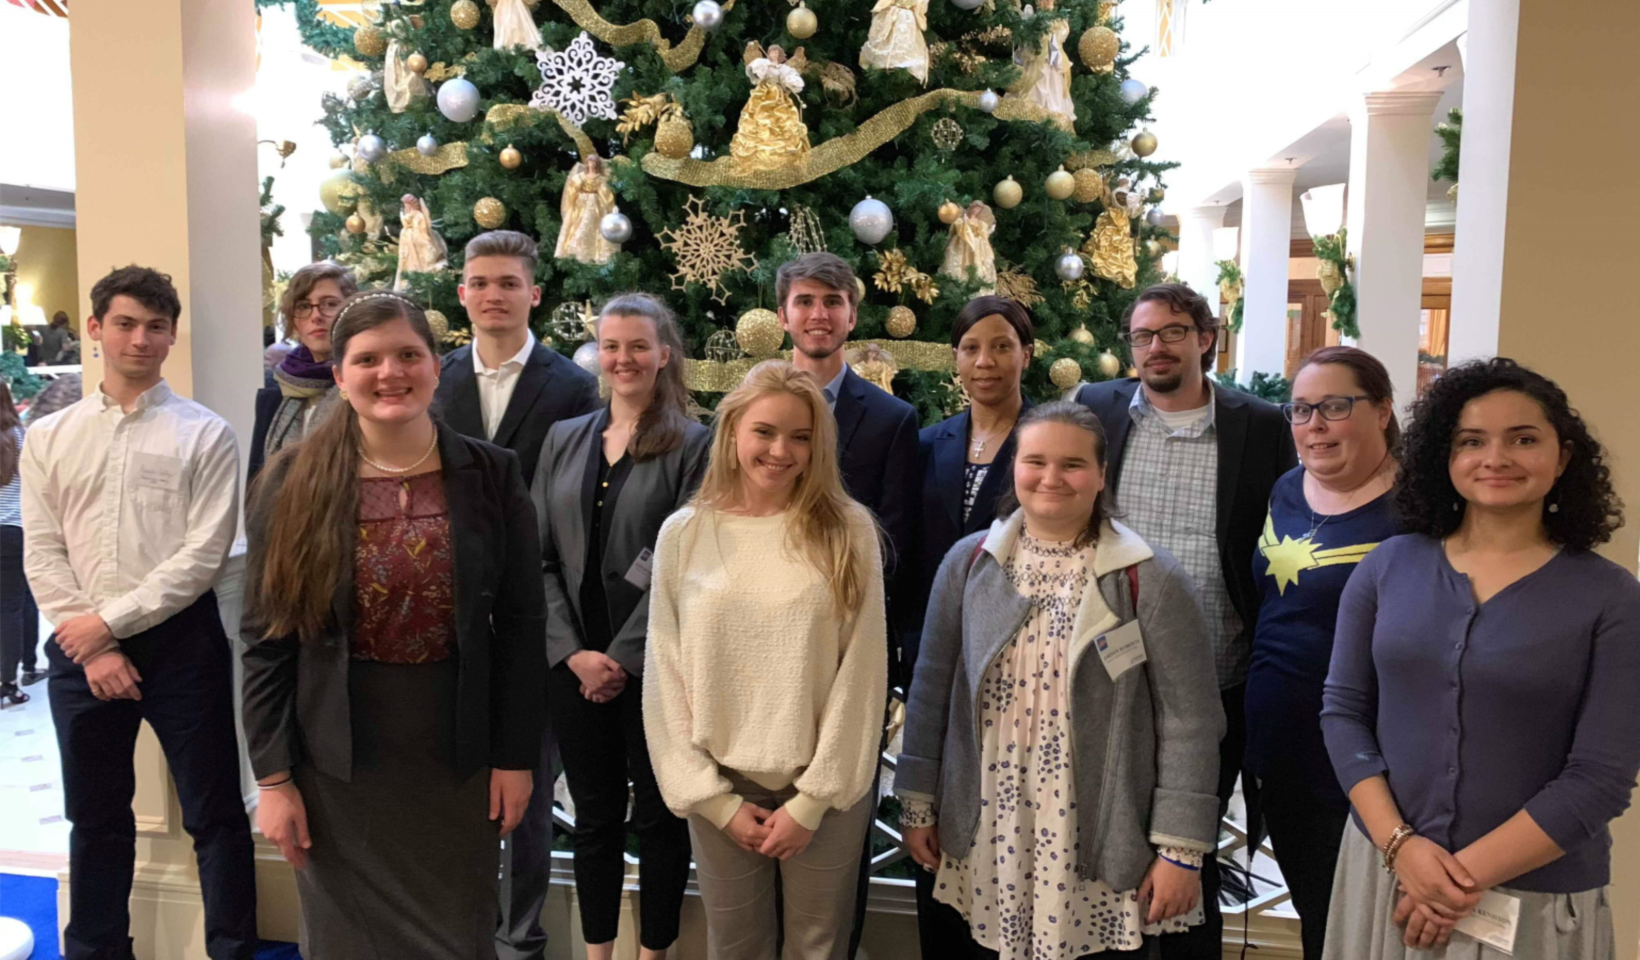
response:
M1109 437L1117 515L1164 546L1196 581L1214 648L1228 732L1219 745L1219 814L1230 806L1246 742L1243 696L1260 592L1253 550L1276 478L1297 464L1281 410L1207 376L1219 322L1184 284L1145 289L1123 317L1122 338L1138 377L1082 387ZM1253 784L1250 809L1253 809ZM1219 863L1202 865L1207 922L1159 937L1163 960L1220 955Z

